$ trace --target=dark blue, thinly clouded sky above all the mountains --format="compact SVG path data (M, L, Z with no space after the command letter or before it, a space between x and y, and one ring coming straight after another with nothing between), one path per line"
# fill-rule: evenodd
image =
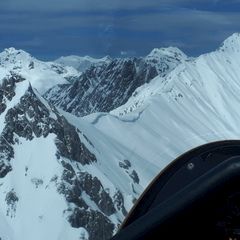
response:
M0 49L41 59L143 56L176 46L196 56L240 32L240 0L1 0Z

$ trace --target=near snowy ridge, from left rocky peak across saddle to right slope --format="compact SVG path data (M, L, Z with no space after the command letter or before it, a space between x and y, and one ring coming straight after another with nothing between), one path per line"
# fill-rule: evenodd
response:
M234 34L137 88L110 114L77 118L49 106L31 77L2 68L0 237L109 238L172 159L209 141L239 139L239 69Z

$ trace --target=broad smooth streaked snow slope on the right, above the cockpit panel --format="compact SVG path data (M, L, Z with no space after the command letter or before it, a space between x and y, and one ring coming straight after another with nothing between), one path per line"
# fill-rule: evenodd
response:
M160 170L192 147L240 137L239 69L240 36L234 34L217 51L138 88L111 114L84 119Z

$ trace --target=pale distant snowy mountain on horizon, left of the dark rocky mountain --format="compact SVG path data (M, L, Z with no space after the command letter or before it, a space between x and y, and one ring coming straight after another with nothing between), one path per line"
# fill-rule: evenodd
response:
M84 72L92 65L101 65L104 63L109 63L110 61L111 58L109 56L103 58L92 58L90 56L80 57L71 55L66 57L60 57L56 59L54 62L59 63L63 66L74 67L79 72Z

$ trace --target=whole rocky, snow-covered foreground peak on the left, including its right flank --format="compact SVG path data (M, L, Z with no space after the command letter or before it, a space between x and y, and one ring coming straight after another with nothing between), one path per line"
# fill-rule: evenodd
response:
M0 79L0 102L0 237L109 239L154 165L142 170L140 156L67 121L19 73Z

